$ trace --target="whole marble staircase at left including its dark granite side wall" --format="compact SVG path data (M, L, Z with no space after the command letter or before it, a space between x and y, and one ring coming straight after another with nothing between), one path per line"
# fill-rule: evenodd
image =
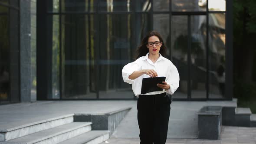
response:
M107 114L70 114L0 129L0 144L99 144L131 108Z

